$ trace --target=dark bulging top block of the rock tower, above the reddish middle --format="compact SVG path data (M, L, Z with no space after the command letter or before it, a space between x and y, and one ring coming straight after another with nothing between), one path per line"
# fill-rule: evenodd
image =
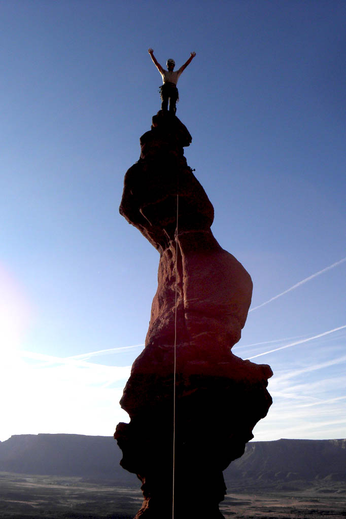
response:
M178 117L158 112L140 143L140 159L125 175L119 211L162 253L175 238L177 194L180 231L210 229L214 208L187 165L183 146L189 146L191 135Z

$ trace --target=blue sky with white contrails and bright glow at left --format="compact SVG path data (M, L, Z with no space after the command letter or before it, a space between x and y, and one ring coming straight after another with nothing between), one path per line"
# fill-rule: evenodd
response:
M13 0L0 20L0 439L127 419L159 260L118 214L159 108L149 47L197 53L185 155L254 281L233 352L274 371L255 440L345 438L346 4Z

